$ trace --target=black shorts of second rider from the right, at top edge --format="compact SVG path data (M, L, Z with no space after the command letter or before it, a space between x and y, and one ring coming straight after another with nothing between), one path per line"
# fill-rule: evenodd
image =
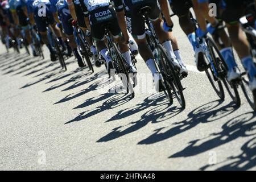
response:
M180 18L189 15L189 9L193 7L193 3L191 0L171 0L170 6L174 14Z

